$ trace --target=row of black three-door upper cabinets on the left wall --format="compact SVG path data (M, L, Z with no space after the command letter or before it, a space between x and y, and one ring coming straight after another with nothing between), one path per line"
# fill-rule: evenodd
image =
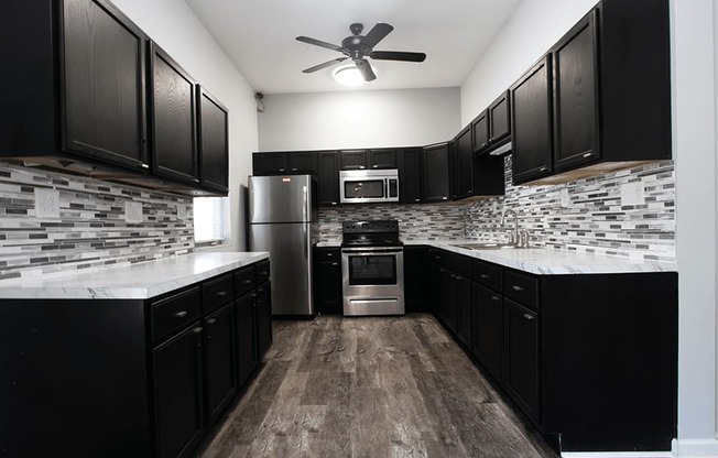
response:
M214 170L226 134L214 130L202 145L214 151L213 172L198 190L195 81L109 1L17 2L0 26L12 88L0 107L0 157L166 192L226 193L226 166Z

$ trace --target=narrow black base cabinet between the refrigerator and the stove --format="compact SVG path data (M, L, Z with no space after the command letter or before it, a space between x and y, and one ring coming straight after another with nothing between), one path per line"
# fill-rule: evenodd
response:
M314 304L319 314L342 314L341 250L315 248Z

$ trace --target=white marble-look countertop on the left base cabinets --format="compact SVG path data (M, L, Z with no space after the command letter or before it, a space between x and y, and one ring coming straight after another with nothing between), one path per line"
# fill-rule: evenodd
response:
M268 259L266 252L192 253L105 269L0 281L0 299L146 299Z

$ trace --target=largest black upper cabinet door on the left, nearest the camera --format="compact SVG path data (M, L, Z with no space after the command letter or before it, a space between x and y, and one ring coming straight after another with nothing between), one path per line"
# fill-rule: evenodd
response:
M146 168L146 36L109 2L61 4L63 149Z

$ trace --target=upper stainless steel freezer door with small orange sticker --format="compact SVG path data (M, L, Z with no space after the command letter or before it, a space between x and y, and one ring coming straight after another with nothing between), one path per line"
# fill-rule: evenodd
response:
M311 220L312 177L309 175L249 177L251 223Z

